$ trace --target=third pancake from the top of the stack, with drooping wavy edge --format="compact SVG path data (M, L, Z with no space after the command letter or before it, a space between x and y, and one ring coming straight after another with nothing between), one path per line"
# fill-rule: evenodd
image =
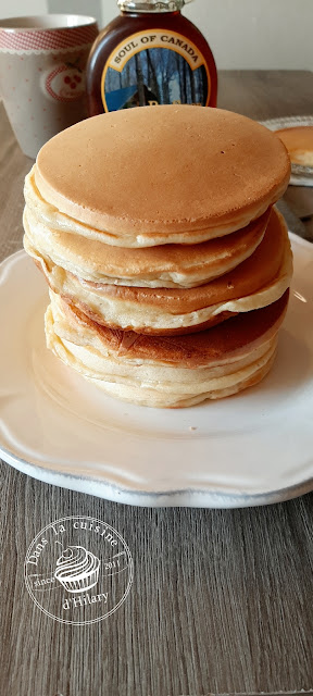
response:
M24 246L43 271L51 289L70 304L99 324L142 334L201 331L234 313L265 307L281 297L292 273L287 228L275 209L262 243L249 259L228 274L191 289L92 284L42 259L27 236Z

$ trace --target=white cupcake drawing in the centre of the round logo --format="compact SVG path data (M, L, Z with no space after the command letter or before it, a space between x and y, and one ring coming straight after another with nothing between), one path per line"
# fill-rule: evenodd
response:
M57 561L54 577L67 592L86 592L98 583L100 560L83 546L68 546Z

